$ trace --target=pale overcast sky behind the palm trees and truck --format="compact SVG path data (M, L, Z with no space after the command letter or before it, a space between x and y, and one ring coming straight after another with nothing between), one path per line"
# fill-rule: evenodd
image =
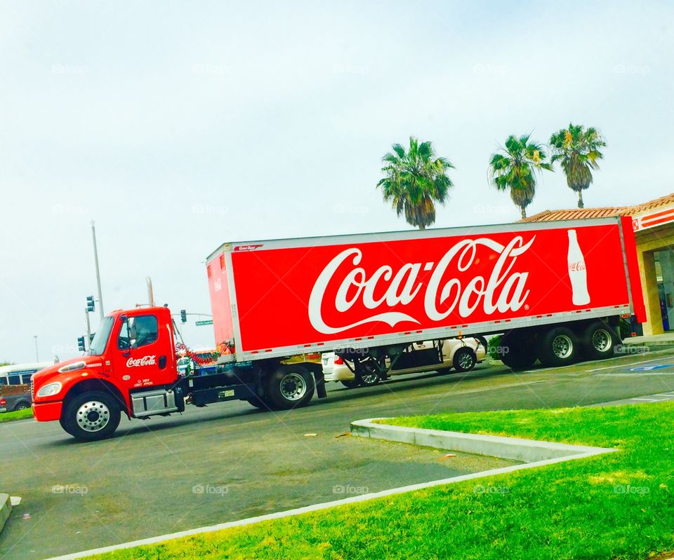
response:
M608 144L587 207L673 191L672 4L243 4L0 0L0 361L34 361L34 335L77 355L91 220L106 311L150 275L210 313L225 241L408 228L375 185L409 135L456 166L437 227L517 220L491 152L569 121ZM528 210L575 204L557 170Z

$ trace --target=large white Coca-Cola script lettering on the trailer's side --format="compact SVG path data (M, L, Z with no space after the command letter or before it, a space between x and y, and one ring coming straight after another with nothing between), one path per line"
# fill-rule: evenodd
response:
M423 311L432 321L442 321L455 311L461 317L468 317L479 306L487 315L496 311L517 311L529 295L526 289L529 273L513 271L513 267L517 257L531 247L535 238L534 235L524 243L522 236L517 235L508 245L489 238L465 239L451 247L437 264L406 263L397 271L384 265L369 277L359 266L363 259L362 251L350 247L334 257L317 278L309 299L309 320L312 327L324 334L343 332L375 321L385 322L390 327L404 321L421 324L423 317L414 317L402 310L376 312L381 307L404 308L417 298L423 299ZM453 271L465 278L476 262L478 252L485 254L481 247L498 256L494 256L489 277L475 275L462 282L457 278L459 274L454 275ZM422 270L432 271L428 282L419 278ZM329 288L331 294L336 288L334 301L324 301ZM372 313L347 325L326 324L323 315L326 304L339 313L345 313L356 303Z

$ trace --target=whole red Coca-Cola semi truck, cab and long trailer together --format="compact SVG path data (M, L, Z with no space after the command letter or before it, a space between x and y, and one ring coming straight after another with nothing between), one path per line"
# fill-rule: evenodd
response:
M128 418L243 399L289 409L325 396L320 364L335 352L356 379L397 362L442 364L442 343L503 334L513 368L612 355L621 317L644 319L629 219L499 224L225 243L207 259L214 374L181 375L168 308L117 310L82 357L32 378L39 421L78 439ZM211 368L212 371L212 368Z

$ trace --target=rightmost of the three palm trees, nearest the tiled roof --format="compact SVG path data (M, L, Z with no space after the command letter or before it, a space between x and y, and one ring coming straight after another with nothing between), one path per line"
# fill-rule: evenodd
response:
M604 157L599 151L606 142L595 128L585 130L583 125L569 123L569 128L555 132L550 137L550 148L553 152L551 162L560 161L567 185L578 193L578 207L583 208L583 191L592 182L590 170L599 169L597 160Z

